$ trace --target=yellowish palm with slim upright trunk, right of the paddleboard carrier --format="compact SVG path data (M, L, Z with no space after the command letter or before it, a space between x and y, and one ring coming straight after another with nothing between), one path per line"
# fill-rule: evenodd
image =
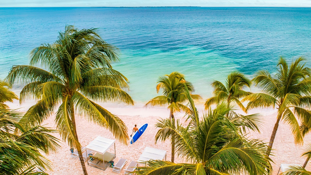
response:
M187 101L185 94L185 85L190 92L194 91L193 85L186 81L184 75L179 72L172 72L169 75L160 76L158 80L158 85L156 86L156 91L159 93L160 88L162 88L163 95L157 96L151 99L145 104L145 107L151 106L167 106L170 110L169 119L173 120L175 123L174 113L176 112L186 112L188 113L188 108L183 104ZM194 99L201 99L200 95L191 94ZM175 155L175 143L174 135L172 135L172 158L171 161L174 162Z

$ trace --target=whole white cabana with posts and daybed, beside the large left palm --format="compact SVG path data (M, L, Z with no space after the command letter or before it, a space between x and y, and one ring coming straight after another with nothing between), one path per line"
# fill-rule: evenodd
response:
M107 151L112 145L114 145L114 154ZM98 136L85 149L86 155L93 154L89 155L87 164L97 168L106 169L109 166L109 161L115 158L115 140Z

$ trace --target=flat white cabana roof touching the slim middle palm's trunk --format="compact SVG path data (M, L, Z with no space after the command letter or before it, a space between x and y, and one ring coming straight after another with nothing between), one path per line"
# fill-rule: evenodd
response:
M146 147L140 158L139 162L149 161L149 160L164 160L166 155L165 150L159 150L156 148Z

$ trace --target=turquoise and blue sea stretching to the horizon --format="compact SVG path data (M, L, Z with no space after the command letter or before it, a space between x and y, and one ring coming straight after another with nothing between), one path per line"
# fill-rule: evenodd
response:
M66 24L95 27L121 49L114 68L128 77L137 102L156 96L157 78L172 71L207 98L214 79L234 70L273 72L280 55L304 56L311 66L311 8L0 8L0 16L0 78L28 64L31 49L53 43Z

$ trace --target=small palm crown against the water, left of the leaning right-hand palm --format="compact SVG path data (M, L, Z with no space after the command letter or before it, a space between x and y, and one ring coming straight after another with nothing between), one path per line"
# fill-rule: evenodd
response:
M222 101L226 101L228 106L231 105L231 102L234 102L244 112L247 112L239 99L251 94L251 92L243 90L244 87L250 88L250 85L251 81L239 71L231 72L225 81L225 85L220 81L213 81L214 96L206 100L204 104L205 109L207 110L212 104L219 104Z

